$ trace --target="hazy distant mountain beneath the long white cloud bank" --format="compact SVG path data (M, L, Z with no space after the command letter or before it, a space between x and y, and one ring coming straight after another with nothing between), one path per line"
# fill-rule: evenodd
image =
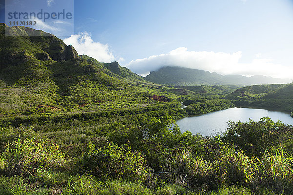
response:
M262 75L245 77L242 75L220 75L215 72L182 68L162 67L157 71L150 72L145 77L147 81L166 85L253 85L289 83L290 79L279 79Z

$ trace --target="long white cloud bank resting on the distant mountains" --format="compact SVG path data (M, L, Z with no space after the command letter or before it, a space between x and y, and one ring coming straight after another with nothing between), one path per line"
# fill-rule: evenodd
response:
M207 70L219 74L265 75L276 78L293 78L293 68L274 64L272 59L254 59L251 63L239 63L241 51L230 53L188 51L179 47L167 54L153 55L132 60L126 67L133 72L146 75L163 66L180 66Z

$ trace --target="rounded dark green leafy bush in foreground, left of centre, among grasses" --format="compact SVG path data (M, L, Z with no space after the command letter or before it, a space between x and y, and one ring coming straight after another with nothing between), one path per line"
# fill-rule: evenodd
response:
M78 166L83 173L94 176L143 181L145 159L140 152L131 152L128 144L124 147L109 142L103 148L95 149L95 145L89 143Z

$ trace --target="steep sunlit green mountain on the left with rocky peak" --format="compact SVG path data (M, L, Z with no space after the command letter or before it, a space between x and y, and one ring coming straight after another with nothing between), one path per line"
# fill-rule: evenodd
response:
M117 62L100 63L56 36L0 24L0 117L58 115L146 106L147 90L128 84L140 76ZM29 37L28 33L34 33Z

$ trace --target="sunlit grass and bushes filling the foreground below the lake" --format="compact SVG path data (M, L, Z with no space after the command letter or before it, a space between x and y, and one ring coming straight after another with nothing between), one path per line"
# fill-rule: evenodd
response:
M181 134L166 113L122 121L128 122L1 128L0 192L269 195L293 190L292 126L269 118L230 122L224 135L205 138Z

